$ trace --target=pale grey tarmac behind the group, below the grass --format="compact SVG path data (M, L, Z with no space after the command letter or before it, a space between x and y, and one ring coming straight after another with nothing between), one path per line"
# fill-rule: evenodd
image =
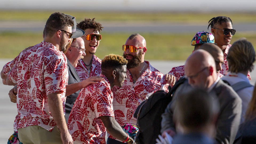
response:
M0 68L9 62L10 59L0 59ZM163 74L168 73L172 67L184 65L185 61L154 61L150 60L150 64L161 71ZM256 70L251 73L251 84L254 85L256 81ZM9 90L13 86L6 86L0 82L0 143L6 143L11 134L13 134L13 122L17 115L17 105L12 103L9 99Z

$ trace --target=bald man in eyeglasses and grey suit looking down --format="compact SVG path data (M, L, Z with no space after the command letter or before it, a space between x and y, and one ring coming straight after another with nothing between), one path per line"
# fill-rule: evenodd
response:
M240 123L242 101L232 87L218 77L214 58L205 50L195 51L185 63L185 75L187 80L177 88L162 114L162 136L165 137L167 133L174 137L176 131L181 132L173 122L176 100L184 91L200 88L216 94L220 104L220 114L216 120L216 143L233 143Z

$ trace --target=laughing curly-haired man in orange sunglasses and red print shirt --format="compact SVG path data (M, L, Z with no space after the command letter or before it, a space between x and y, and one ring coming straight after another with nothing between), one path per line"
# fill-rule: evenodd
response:
M75 70L81 81L91 76L99 76L101 74L101 60L94 54L99 46L102 30L100 23L94 21L95 18L85 18L84 21L78 23L77 27L85 31L85 35L81 38L85 42L85 56L79 60Z

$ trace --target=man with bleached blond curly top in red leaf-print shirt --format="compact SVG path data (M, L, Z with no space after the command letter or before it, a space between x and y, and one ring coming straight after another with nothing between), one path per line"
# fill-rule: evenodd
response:
M122 130L114 118L113 86L122 87L127 60L120 55L105 56L100 77L104 80L85 87L71 110L68 128L75 143L106 143L106 130L113 137L127 143L133 139Z

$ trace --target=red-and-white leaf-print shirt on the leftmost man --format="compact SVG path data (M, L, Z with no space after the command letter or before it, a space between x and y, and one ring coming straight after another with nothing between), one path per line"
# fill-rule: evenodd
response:
M66 56L51 43L43 41L21 53L16 60L8 75L17 83L18 114L14 129L37 125L51 131L56 123L49 111L47 95L60 91L65 112Z

